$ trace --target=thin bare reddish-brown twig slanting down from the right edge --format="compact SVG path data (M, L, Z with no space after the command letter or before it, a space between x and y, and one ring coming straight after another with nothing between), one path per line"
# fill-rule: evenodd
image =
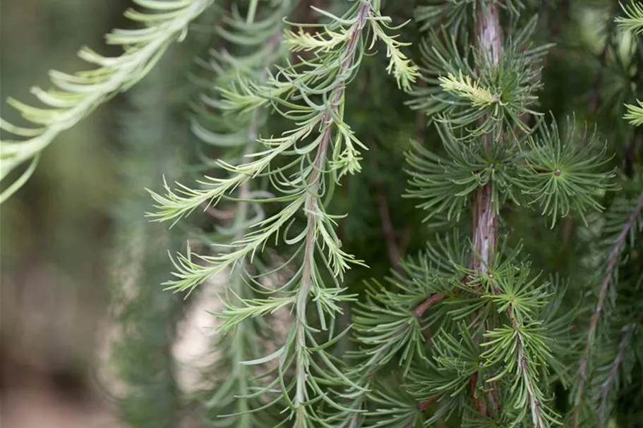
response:
M635 222L635 219L637 218L637 216L642 210L643 210L643 195L639 197L639 202L637 206L630 213L630 217L625 222L623 229L621 229L620 234L616 239L616 242L614 243L613 247L609 252L607 269L605 271L605 277L603 278L603 282L601 283L601 289L599 291L599 300L598 302L596 302L596 308L594 309L594 313L591 314L591 319L589 321L589 332L587 334L587 343L585 343L583 356L581 357L579 362L578 389L576 392L574 412L572 416L573 428L579 427L578 419L580 415L580 403L584 394L585 381L587 380L587 360L589 358L591 346L594 343L594 336L596 335L596 327L599 325L601 312L603 312L603 303L605 302L609 285L612 282L613 271L616 267L616 263L618 262L618 255L620 252L620 248L623 247L623 244L625 244L625 238L627 238L627 233L630 232L630 229L632 228Z

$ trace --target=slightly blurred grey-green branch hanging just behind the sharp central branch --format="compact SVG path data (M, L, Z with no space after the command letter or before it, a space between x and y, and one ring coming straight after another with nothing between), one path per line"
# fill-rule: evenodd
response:
M269 75L268 70L283 59L284 51L280 49L282 15L288 13L291 8L292 4L289 1L283 1L272 9L266 8L260 11L256 11L251 4L247 16L243 17L233 12L231 17L226 17L219 29L222 30L224 24L228 25L229 28L222 31L222 34L229 42L227 49L230 51L227 49L211 51L212 58L208 68L215 71L215 79L208 88L217 82L224 85L229 79L237 78L241 73L259 83L265 83ZM261 17L259 20L257 15ZM248 20L252 21L252 25L246 25ZM267 30L260 31L261 28ZM248 48L251 49L251 54L241 56L241 52ZM220 104L216 92L214 94L205 92L201 94L200 99L203 104L213 108ZM238 155L239 145L243 147L241 159L252 157L260 149L257 137L265 126L267 109L256 109L248 115L240 115L234 121L229 118L220 118L217 115L218 110L212 113L205 111L203 107L197 110L200 116L194 118L192 123L195 135L210 145L227 150L230 157ZM209 123L215 126L215 130L206 128L206 124ZM232 147L229 144L230 141L234 142ZM205 212L215 218L232 220L229 228L221 229L221 240L229 239L232 243L243 240L253 221L251 214L256 212L257 214L254 215L264 215L258 204L251 202L255 192L253 192L253 185L245 181L239 185L235 195L237 201L233 207L215 209L207 203L203 204ZM234 309L233 305L244 305L244 302L256 301L259 293L255 288L248 286L248 282L257 281L255 278L265 274L265 270L258 260L251 260L248 257L239 259L232 267L227 288L222 293L232 300L226 306ZM253 277L248 275L249 271L253 272ZM274 302L275 300L265 302L265 306ZM276 307L283 302L284 300L277 300ZM221 331L217 335L215 350L221 354L221 357L217 359L215 367L212 367L212 372L220 379L217 379L215 389L204 391L204 394L208 394L205 402L208 416L211 415L210 421L217 427L258 428L277 424L272 417L269 417L268 412L262 411L265 406L263 397L257 397L255 394L257 390L264 387L260 380L262 374L258 374L258 370L252 365L246 364L262 356L262 351L265 349L263 341L271 333L267 329L267 324L263 320L250 317L236 323L231 331Z

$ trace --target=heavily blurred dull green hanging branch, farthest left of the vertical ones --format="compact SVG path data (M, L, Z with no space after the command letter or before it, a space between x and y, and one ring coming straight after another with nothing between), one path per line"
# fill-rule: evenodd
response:
M110 362L125 386L117 399L119 412L132 428L181 424L181 391L172 346L185 306L179 296L159 292L158 284L172 264L157 248L179 250L182 237L178 231L145 221L148 203L141 188L157 183L162 171L179 174L173 143L185 133L176 126L176 105L167 104L166 94L180 75L169 65L183 55L169 55L161 61L162 68L128 92L127 109L119 117L119 140L124 146L120 185L127 190L115 210L111 303L119 334Z

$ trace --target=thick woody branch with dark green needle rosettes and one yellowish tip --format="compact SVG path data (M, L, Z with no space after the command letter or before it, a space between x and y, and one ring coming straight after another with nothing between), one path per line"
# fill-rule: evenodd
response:
M438 19L438 15L445 18L455 13L456 7L463 17L467 8L467 16L475 16L476 47L469 51L469 44L459 39L459 33L433 35L422 46L428 63L426 81L433 86L416 91L420 99L412 104L434 116L432 120L450 157L416 145L417 153L409 154L407 160L414 167L410 183L417 188L409 196L424 200L419 207L430 212L426 219L445 214L438 225L450 223L458 219L468 202L473 202L471 255L468 262L459 265L458 279L451 282L469 298L463 299L461 308L448 311L454 319L469 319L458 338L470 337L471 355L457 354L460 346L454 339L450 349L454 354L440 356L433 371L425 377L419 375L418 382L426 385L421 391L429 397L443 389L455 390L454 396L466 395L478 413L463 415L463 421L471 424L493 420L502 426L517 426L530 419L536 427L549 427L559 423L558 415L548 405L540 370L555 359L547 344L549 339L536 327L542 314L533 313L545 303L541 299L548 295L544 290L547 284L533 287L535 279L528 278L526 268L518 269L509 261L498 262L498 215L505 200L522 204L524 195L536 195L532 202L541 202L543 214L554 218L559 214L565 216L570 207L582 214L587 207L597 206L588 190L590 195L602 195L609 187L603 181L611 175L593 171L602 153L594 157L589 150L578 151L573 148L575 140L562 145L555 131L541 129L542 141L535 144L531 140L534 130L527 126L524 116L541 115L530 106L536 102L534 94L540 85L539 66L534 64L540 63L547 49L525 48L536 18L507 35L507 42L503 43L502 6L498 2L431 6L431 13L435 13L431 19ZM507 5L509 13L518 13L518 7L522 7L519 2ZM429 12L428 8L425 11ZM464 18L458 25L462 23ZM463 31L462 35L468 33ZM510 79L509 75L513 77ZM539 127L543 128L541 121ZM507 146L505 140L515 144ZM555 166L558 164L565 167L564 181L555 179L563 171L562 166ZM551 189L543 188L546 181L553 181ZM527 183L533 184L524 187ZM600 189L594 183L601 183ZM523 190L516 192L516 188ZM464 267L467 265L468 268ZM434 297L439 298L433 295L425 298L426 305L430 306ZM455 305L459 299L454 297L455 301L447 304ZM508 325L505 322L494 328L504 317L492 316L487 302L493 302L492 307L498 312L506 313ZM480 343L481 332L482 337L490 340ZM445 332L440 331L436 340L444 336ZM487 350L480 354L479 347ZM442 353L444 346L437 348L434 352ZM451 360L453 357L456 361ZM487 367L484 370L478 366L480 357L486 360L481 363ZM443 374L443 380L437 380L440 376L434 379L436 374ZM452 403L444 403L440 408L450 406L458 408Z

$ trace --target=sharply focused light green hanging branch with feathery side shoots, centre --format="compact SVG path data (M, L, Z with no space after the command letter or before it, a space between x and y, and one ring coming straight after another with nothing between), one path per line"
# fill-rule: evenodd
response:
M218 314L222 319L220 331L227 333L248 319L265 317L281 308L292 309L294 319L283 346L275 353L241 364L278 361L280 376L251 396L271 397L280 390L280 396L271 404L280 401L287 405L285 417L298 428L311 427L315 421L322 420L319 401L338 408L329 394L323 393L329 374L340 374L325 348L337 338L332 326L341 312L338 303L347 300L341 288L344 272L351 264L361 262L342 251L335 221L326 212L322 198L329 197L330 180L337 183L345 174L361 169L359 148L366 147L344 122L344 98L348 82L359 68L367 27L371 30L371 46L378 40L386 45L390 59L387 72L400 88L409 90L417 75L416 66L399 50L404 43L396 36L387 35L386 30L393 27L389 24L390 18L380 16L377 5L377 1L360 0L342 18L316 9L330 18L323 30L306 32L304 27L311 25L301 25L296 32L284 32L284 45L289 51L311 52L311 58L279 67L267 82L241 78L230 88L220 88L220 106L225 111L238 114L270 106L292 120L293 129L281 137L259 137L257 142L263 151L254 153L252 159L244 159L242 164L218 161L219 166L229 171L229 178L205 177L199 182L199 188L176 184L176 191L166 184L165 195L150 191L157 202L157 212L150 216L157 221L176 221L204 204L215 205L232 192L243 190L244 183L258 176L267 178L281 195L256 196L250 198L251 202L288 202L284 209L251 224L243 237L228 245L228 252L179 255L174 279L165 283L176 291L192 291L224 269L239 268L244 259L252 262L253 256L263 251L271 238L280 236L284 229L297 228L296 217L303 214L301 231L292 238L284 237L287 245L295 247L294 255L298 257L292 257L282 266L299 260L299 255L302 257L294 276L274 291L261 291L265 298L237 298L227 302ZM277 167L274 163L277 159L289 160L286 166ZM323 276L324 271L332 277L330 281ZM313 308L318 319L310 317ZM318 342L320 331L328 331L326 343ZM361 390L347 377L339 377L335 386Z

